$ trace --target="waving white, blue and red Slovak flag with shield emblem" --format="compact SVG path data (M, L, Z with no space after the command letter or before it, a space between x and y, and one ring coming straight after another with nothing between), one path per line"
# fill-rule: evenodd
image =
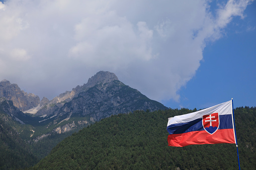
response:
M168 145L236 143L232 100L168 118Z

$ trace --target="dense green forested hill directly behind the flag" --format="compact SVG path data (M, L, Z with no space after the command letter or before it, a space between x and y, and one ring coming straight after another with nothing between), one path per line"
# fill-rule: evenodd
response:
M195 111L195 110L193 110ZM167 118L188 109L135 111L64 139L35 169L237 169L235 144L167 146ZM235 109L241 169L256 168L256 107Z

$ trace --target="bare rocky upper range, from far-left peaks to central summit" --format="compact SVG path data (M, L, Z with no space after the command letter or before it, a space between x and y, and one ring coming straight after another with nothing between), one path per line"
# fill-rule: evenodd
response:
M0 82L0 97L12 100L14 106L22 111L33 108L33 113L28 112L41 116L39 123L47 120L55 126L62 122L59 129L55 130L57 133L83 126L78 123L80 118L86 121L85 124L89 124L88 121L99 121L112 114L167 109L161 103L150 100L138 90L120 82L114 73L105 71L98 72L89 78L88 83L76 86L72 91L66 91L51 101L44 97L40 102L38 96L22 91L17 84L11 84L7 80ZM71 126L72 117L77 120L75 125L71 123ZM65 122L70 126L65 126ZM47 127L51 126L50 124Z

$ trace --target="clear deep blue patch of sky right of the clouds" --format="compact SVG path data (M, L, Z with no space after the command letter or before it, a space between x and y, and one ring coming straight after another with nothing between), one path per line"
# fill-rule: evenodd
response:
M256 3L244 14L206 46L196 75L180 90L181 103L165 105L202 109L233 98L234 107L256 106Z

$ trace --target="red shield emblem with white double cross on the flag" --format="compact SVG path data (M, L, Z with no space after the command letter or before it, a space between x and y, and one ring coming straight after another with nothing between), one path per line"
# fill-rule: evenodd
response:
M213 134L216 132L216 130L219 128L219 124L218 113L203 115L203 126L208 133Z

